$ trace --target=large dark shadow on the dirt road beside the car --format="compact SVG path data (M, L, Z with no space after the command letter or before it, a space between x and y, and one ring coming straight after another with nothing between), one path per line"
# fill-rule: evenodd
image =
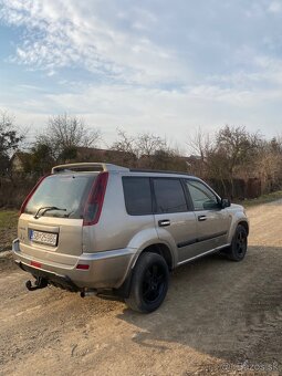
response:
M213 254L171 275L163 305L149 315L125 309L133 341L169 351L174 344L228 362L281 364L282 248L249 247L242 262Z

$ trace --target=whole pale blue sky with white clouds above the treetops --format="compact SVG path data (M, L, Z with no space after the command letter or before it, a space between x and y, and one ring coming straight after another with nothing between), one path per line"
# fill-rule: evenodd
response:
M0 108L31 136L64 112L105 145L282 133L282 0L0 0Z

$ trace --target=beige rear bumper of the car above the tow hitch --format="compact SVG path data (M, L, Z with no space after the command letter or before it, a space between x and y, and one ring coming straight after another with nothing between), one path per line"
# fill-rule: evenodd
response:
M45 274L48 280L60 282L59 285L72 291L80 291L84 288L118 289L129 274L136 257L136 250L127 248L82 253L76 258L75 264L70 267L66 262L64 264L44 260L42 255L40 257L40 252L39 257L24 253L19 239L13 241L12 251L14 261L21 269L33 275L44 276ZM40 268L34 267L34 262L39 263ZM77 264L86 264L88 269L76 269Z

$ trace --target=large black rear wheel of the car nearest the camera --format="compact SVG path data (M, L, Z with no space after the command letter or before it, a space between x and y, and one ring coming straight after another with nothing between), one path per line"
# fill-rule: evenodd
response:
M157 310L166 297L168 281L169 271L165 259L157 253L142 253L133 271L126 304L142 313Z

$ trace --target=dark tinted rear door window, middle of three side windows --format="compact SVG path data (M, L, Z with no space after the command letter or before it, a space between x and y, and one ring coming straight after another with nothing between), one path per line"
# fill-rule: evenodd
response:
M185 192L179 179L155 178L156 212L187 211Z

